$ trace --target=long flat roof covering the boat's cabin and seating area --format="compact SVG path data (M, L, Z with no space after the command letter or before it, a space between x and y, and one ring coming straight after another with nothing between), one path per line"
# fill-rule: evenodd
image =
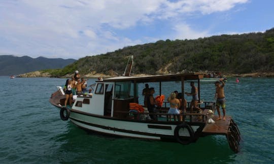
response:
M118 76L104 79L105 82L114 81L136 81L136 83L150 83L160 81L181 81L183 80L197 80L203 78L204 73L180 73L167 75L150 75L150 76Z

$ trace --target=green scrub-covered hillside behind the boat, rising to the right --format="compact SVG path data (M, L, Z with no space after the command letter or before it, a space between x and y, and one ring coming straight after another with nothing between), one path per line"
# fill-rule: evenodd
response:
M161 74L190 71L252 73L274 71L274 28L265 32L220 35L193 40L159 40L129 46L115 52L87 56L64 69L50 70L63 76L75 70L122 74L129 55L134 56L132 73Z

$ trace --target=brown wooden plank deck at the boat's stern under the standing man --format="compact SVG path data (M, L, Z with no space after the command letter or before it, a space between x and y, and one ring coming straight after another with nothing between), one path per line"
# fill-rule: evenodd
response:
M212 117L215 123L207 123L207 125L205 125L205 127L202 130L203 134L206 134L206 135L226 135L227 134L231 116L229 115L225 116L226 120L223 120L223 119L216 120L216 118L218 118L217 115L214 115Z

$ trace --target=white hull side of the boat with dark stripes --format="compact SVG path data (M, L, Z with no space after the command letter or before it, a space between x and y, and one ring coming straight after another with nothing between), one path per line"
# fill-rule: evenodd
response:
M82 129L113 136L161 140L161 138L173 138L176 124L151 124L150 122L125 121L100 116L92 116L71 111L70 120ZM199 126L191 126L194 132ZM189 137L187 129L180 129L180 136Z

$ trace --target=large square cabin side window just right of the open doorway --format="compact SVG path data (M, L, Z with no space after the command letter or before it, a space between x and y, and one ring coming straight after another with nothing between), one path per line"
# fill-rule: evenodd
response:
M133 97L133 91L131 92L131 82L117 82L115 84L115 99L127 99ZM131 95L132 94L132 95Z

